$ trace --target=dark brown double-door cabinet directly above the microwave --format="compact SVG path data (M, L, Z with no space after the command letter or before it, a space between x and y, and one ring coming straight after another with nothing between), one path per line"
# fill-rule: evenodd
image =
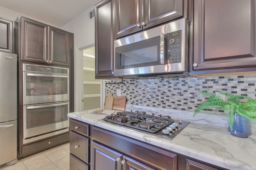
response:
M183 16L183 0L114 0L115 37Z

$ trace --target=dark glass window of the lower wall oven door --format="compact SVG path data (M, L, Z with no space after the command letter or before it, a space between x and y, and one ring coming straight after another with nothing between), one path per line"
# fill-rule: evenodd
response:
M27 107L26 129L44 127L68 120L68 105L50 107Z

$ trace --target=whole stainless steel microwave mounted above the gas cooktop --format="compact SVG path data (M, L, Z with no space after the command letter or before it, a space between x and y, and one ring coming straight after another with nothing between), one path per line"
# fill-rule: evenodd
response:
M114 76L188 76L188 21L180 19L115 40Z

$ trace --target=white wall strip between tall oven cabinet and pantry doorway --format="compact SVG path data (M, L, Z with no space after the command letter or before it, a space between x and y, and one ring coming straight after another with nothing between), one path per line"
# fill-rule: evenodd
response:
M94 19L87 22L87 13L93 8L94 6L61 27L74 33L74 111L82 110L83 56L80 50L94 43Z

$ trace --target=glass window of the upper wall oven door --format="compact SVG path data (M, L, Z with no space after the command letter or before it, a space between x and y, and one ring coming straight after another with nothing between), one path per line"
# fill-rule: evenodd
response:
M26 96L68 94L68 76L26 73Z

